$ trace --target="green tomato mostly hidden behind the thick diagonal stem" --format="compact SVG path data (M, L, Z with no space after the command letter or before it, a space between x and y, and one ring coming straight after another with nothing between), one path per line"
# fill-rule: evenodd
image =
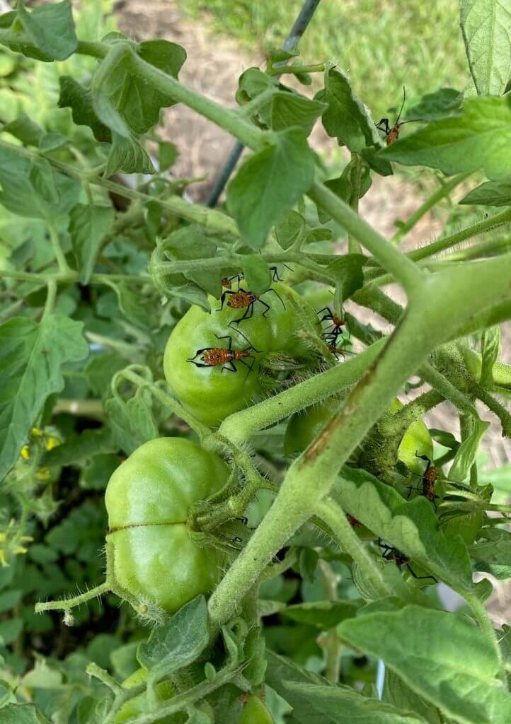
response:
M284 437L284 452L286 455L294 455L302 452L321 432L326 422L338 409L338 400L326 400L324 403L311 405L304 412L295 413L288 422L286 436ZM402 408L402 403L396 398L389 408L391 413L396 413ZM399 445L398 458L413 473L422 474L425 463L415 457L425 455L433 459L433 440L428 428L422 420L412 422L407 432L404 433Z

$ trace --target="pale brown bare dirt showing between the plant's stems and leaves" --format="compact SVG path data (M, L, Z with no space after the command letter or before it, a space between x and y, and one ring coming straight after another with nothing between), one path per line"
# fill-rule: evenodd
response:
M262 67L263 57L248 56L241 51L236 42L228 38L213 35L202 22L186 17L175 0L121 0L116 4L115 12L120 29L136 38L165 38L180 43L188 52L188 62L180 72L180 80L199 90L210 98L220 101L230 108L236 107L234 94L238 76L249 67ZM175 143L179 149L175 174L178 177L202 179L190 187L192 198L204 201L222 167L233 140L215 125L199 117L194 111L179 105L165 113L165 137ZM329 139L320 124L311 135L311 144L316 151L324 154L328 161L329 149L333 141ZM383 235L391 235L396 219L405 219L420 205L415 187L402 177L375 176L373 186L360 204L360 214ZM407 240L407 248L415 248L438 237L441 222L431 214L423 217ZM402 301L399 290L389 293ZM365 314L365 311L362 311ZM511 327L504 325L504 357L511 361ZM483 449L489 455L488 469L511 462L510 441L502 437L500 425L485 408L480 408L483 418L491 421L491 428L483 440ZM453 414L449 403L439 405L428 416L431 427L459 432L457 416ZM509 615L506 599L509 599L511 586L498 584L491 601L490 610L495 623L504 623Z

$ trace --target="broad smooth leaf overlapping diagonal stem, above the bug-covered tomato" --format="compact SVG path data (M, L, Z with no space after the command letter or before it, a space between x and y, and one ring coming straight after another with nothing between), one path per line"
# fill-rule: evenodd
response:
M241 235L261 247L279 216L306 193L314 177L314 158L304 132L276 132L272 143L249 156L227 188L228 211Z

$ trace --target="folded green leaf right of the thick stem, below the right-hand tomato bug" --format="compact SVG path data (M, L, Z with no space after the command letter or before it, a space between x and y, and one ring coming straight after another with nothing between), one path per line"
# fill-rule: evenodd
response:
M457 591L473 590L472 568L460 537L446 539L438 527L431 502L416 497L406 502L389 485L363 470L343 468L333 497L343 510L407 554Z

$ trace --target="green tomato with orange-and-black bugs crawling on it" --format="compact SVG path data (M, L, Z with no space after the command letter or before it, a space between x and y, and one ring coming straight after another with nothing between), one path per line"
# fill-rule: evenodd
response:
M240 319L246 309L230 308L227 306L227 298L223 310L218 311L220 302L209 297L211 313L198 306L191 306L170 334L163 361L165 379L180 402L209 426L217 426L231 413L242 410L265 395L265 387L258 374L258 360L264 353L282 351L286 355L299 357L307 352L296 336L299 321L290 302L291 297L298 298L298 295L290 287L278 282L275 282L273 289L278 292L286 308L283 308L275 294L266 292L262 298L270 305L270 310L265 316L265 307L256 301L250 319L244 319L240 324L230 324ZM309 321L316 324L315 311L308 306L306 309ZM250 346L260 350L262 354L253 350L250 352L252 360L244 359L245 363L254 363L252 371L240 361L234 362L236 372L229 371L225 365L197 367L188 361L195 358L195 362L203 363L197 352L205 348L228 348L229 340L226 337L231 338L233 350L246 350Z

